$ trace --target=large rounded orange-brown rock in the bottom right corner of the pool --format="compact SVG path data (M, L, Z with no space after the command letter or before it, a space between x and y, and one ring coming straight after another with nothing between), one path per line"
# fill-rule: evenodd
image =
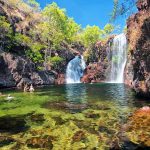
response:
M126 133L131 142L150 147L150 107L138 109L129 117Z

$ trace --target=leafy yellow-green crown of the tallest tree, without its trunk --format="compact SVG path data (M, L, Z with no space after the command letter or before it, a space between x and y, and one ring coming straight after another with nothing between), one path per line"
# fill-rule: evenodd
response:
M42 31L42 39L51 42L51 48L58 48L60 43L65 39L65 25L67 16L65 10L60 9L56 3L47 5L43 12L44 22L40 24ZM48 45L48 44L47 44Z

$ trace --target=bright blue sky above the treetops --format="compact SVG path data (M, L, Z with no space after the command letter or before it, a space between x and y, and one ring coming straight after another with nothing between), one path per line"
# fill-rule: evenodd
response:
M69 17L81 24L97 25L103 28L110 19L110 13L113 9L113 0L37 0L43 8L46 4L56 2L60 8L65 8ZM126 18L120 17L114 23L119 25L121 30L126 24Z

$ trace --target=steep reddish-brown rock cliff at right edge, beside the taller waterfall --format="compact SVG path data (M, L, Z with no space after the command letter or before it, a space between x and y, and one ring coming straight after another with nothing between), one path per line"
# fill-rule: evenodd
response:
M129 43L125 83L138 95L150 97L150 1L137 2L138 13L127 21Z

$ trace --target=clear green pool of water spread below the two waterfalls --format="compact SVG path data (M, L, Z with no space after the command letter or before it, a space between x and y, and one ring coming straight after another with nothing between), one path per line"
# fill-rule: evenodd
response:
M1 92L6 96L0 97L0 119L9 116L11 122L13 117L21 116L29 128L12 133L0 127L2 136L15 139L0 144L0 149L17 149L18 145L19 149L31 149L33 141L39 144L43 136L53 137L54 150L109 149L113 141L120 139L121 126L128 117L138 108L150 106L149 100L136 98L124 84L52 85L36 88L34 93L8 89ZM7 94L14 99L7 101ZM33 140L35 137L39 141ZM117 143L121 145L122 141ZM45 145L39 147L51 149Z

